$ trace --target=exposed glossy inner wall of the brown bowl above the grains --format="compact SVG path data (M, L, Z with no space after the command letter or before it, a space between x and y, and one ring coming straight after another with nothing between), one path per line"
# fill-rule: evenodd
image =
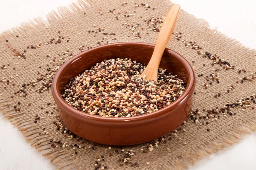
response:
M70 82L70 79L82 74L97 62L102 62L104 59L113 59L115 57L128 58L148 64L154 51L153 44L139 42L124 42L123 44L110 44L92 48L84 53L75 56L75 59L70 59L70 62L61 72L59 79L59 92L62 94L64 87ZM160 68L167 69L172 74L176 74L180 79L189 82L188 63L179 54L166 48ZM190 67L190 66L189 66Z

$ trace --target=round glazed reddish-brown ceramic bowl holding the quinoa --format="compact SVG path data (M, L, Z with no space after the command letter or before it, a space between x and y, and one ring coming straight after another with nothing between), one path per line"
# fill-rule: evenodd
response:
M107 118L78 111L61 97L65 85L71 78L83 73L97 62L119 57L148 64L153 50L153 44L118 42L91 48L65 62L52 81L52 95L64 125L84 139L109 145L140 144L175 130L186 119L192 106L195 74L186 59L168 48L163 54L160 68L177 74L186 82L187 87L175 102L159 111L142 116Z

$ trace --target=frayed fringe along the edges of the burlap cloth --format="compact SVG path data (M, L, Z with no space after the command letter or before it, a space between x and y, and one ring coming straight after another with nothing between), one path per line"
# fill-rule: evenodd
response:
M169 0L164 1L172 4ZM52 11L51 13L47 14L47 21L44 21L39 17L35 18L34 21L30 20L29 22L22 23L19 27L4 31L2 34L0 34L0 41L15 38L17 35L23 36L35 29L50 26L51 24L63 20L64 18L79 14L88 8L97 6L104 2L108 2L108 0L78 0L77 3L72 3L69 8L59 7L57 12ZM99 9L99 11L100 10L101 9ZM211 30L206 20L200 19L198 21L204 26L207 26L209 31L214 32L216 36L224 37L234 42L235 45L246 48L239 41L221 34L216 29ZM246 49L248 51L255 51L255 49ZM57 151L52 148L52 146L47 143L48 140L46 140L45 134L39 135L39 129L30 126L32 124L31 120L23 118L23 114L25 113L18 113L15 111L15 109L11 109L12 107L7 108L7 105L10 103L9 101L10 100L7 98L0 97L0 111L2 111L3 115L9 119L9 121L15 125L15 127L17 127L21 133L23 133L31 146L35 147L43 156L46 156L56 167L58 167L58 169L76 169L77 166L75 162L70 159L69 155L64 153L64 150ZM232 132L226 131L223 136L215 137L212 139L212 141L205 142L204 144L201 144L201 146L191 148L191 150L188 150L183 156L178 156L175 160L169 160L168 163L172 165L175 170L188 169L189 165L195 164L196 161L199 161L212 153L217 153L218 151L239 142L242 139L242 136L250 134L252 131L256 131L256 120L251 120L251 122L241 122L238 126L236 126L235 129L232 129ZM160 166L160 169L165 170L165 167Z

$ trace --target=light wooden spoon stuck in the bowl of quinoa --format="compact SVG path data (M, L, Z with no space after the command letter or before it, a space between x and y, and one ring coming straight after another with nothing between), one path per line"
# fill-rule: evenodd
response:
M162 59L163 52L166 48L166 45L169 42L169 39L172 35L172 31L175 26L179 11L180 11L180 6L177 4L174 4L171 7L170 11L168 12L163 22L163 25L160 29L160 32L158 34L157 42L156 42L152 57L147 67L145 68L143 73L140 75L140 77L145 77L145 79L151 79L157 82L159 64Z

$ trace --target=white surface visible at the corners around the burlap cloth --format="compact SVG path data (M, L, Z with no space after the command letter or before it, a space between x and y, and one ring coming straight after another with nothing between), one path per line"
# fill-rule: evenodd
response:
M0 32L32 20L45 18L59 6L76 0L1 0ZM134 0L137 2L137 0ZM143 2L143 0L140 2ZM253 0L173 0L211 28L256 48L256 3ZM1 64L0 64L1 65ZM2 90L2 89L1 89ZM0 170L54 170L48 159L26 142L23 135L0 113ZM198 161L191 170L256 170L256 133L217 154Z

